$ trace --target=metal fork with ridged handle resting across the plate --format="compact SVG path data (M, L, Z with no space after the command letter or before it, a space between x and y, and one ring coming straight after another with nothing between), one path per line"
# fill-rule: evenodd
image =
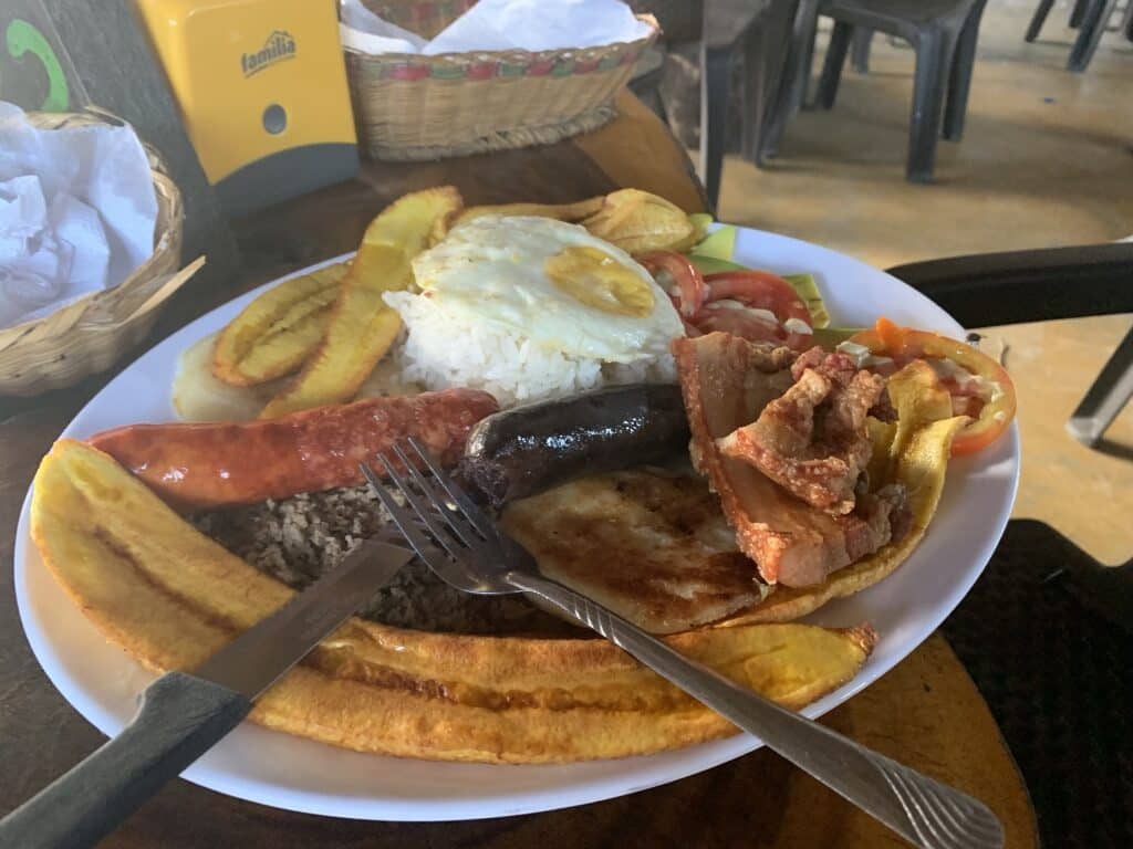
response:
M543 577L535 559L501 531L420 445L410 439L409 446L414 457L401 446L393 447L400 466L386 455L378 457L408 508L398 504L372 468L360 468L406 540L441 580L470 593L521 592L562 610L914 846L1003 847L1003 826L981 801L780 707L689 660L585 595Z

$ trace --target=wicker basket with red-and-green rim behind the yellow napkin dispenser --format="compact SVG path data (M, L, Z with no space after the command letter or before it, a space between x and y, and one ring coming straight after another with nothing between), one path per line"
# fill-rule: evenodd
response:
M368 0L378 15L425 35L467 0L453 3ZM450 8L451 7L451 8ZM428 14L426 14L428 12ZM347 50L359 139L378 160L438 160L551 144L597 129L614 117L612 100L656 38L578 50L373 55ZM426 37L431 37L426 36Z

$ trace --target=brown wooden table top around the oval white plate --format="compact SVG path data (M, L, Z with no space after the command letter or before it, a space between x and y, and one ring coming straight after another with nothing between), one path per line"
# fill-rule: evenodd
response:
M157 334L278 274L357 246L392 197L452 182L469 203L563 201L636 186L702 208L684 152L628 95L604 129L552 147L419 165L370 164L351 183L238 225L247 273L227 292L190 292ZM188 259L188 257L186 257ZM11 561L20 503L39 458L108 376L35 400L0 400L0 563ZM77 615L60 611L60 615ZM930 638L825 720L884 754L983 799L1015 849L1037 846L1034 817L1011 754L963 667ZM12 577L0 569L0 745L8 811L101 743L56 693L24 638ZM877 849L902 841L766 751L634 796L547 814L452 824L330 820L238 801L185 781L164 788L105 847L706 846Z

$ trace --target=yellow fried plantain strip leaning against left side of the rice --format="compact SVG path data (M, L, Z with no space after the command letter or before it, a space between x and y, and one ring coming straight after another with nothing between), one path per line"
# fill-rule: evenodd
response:
M382 293L409 285L412 258L427 247L437 221L454 215L461 203L451 186L415 191L370 222L342 281L326 334L295 381L259 418L338 404L357 394L401 329L401 318Z

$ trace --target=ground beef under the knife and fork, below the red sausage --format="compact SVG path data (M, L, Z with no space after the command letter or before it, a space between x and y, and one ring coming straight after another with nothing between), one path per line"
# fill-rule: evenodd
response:
M288 586L301 590L390 523L368 487L312 492L189 517L203 533ZM420 560L406 564L359 615L418 631L459 634L578 635L519 595L469 595Z

